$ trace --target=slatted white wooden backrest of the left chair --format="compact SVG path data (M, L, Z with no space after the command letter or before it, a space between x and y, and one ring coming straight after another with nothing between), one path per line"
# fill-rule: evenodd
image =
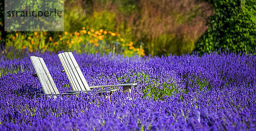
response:
M39 81L43 87L45 94L60 94L50 75L43 58L37 56L30 56L35 72L38 75Z

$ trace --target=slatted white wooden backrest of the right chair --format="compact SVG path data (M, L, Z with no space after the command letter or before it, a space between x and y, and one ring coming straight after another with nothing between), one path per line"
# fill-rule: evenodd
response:
M72 52L59 53L58 57L74 91L91 90Z

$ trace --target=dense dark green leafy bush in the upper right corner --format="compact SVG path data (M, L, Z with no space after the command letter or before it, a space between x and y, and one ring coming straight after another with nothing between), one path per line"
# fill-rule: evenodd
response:
M215 50L253 53L256 50L256 1L209 0L215 14L209 28L196 43L199 54Z

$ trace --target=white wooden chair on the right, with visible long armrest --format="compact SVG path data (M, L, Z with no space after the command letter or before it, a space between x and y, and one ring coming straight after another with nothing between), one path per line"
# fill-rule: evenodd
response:
M62 70L61 72L66 72L67 78L69 79L73 89L73 91L68 91L70 93L81 92L81 91L86 92L86 91L90 91L92 88L122 86L123 93L125 94L126 92L131 92L131 86L137 85L137 83L133 83L133 84L116 84L116 85L105 85L105 86L89 86L72 52L59 53L58 57L64 68L64 70ZM102 90L97 90L97 92L112 93L112 92L115 92L116 90L117 89L108 89L108 90L102 89Z

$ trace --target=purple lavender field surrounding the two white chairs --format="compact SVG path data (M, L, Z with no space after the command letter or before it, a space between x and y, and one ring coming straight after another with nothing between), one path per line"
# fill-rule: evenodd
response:
M256 56L132 57L73 53L89 86L122 87L111 101L96 92L56 99L44 93L29 56L43 57L61 93L70 82L56 54L0 56L0 130L256 130Z

